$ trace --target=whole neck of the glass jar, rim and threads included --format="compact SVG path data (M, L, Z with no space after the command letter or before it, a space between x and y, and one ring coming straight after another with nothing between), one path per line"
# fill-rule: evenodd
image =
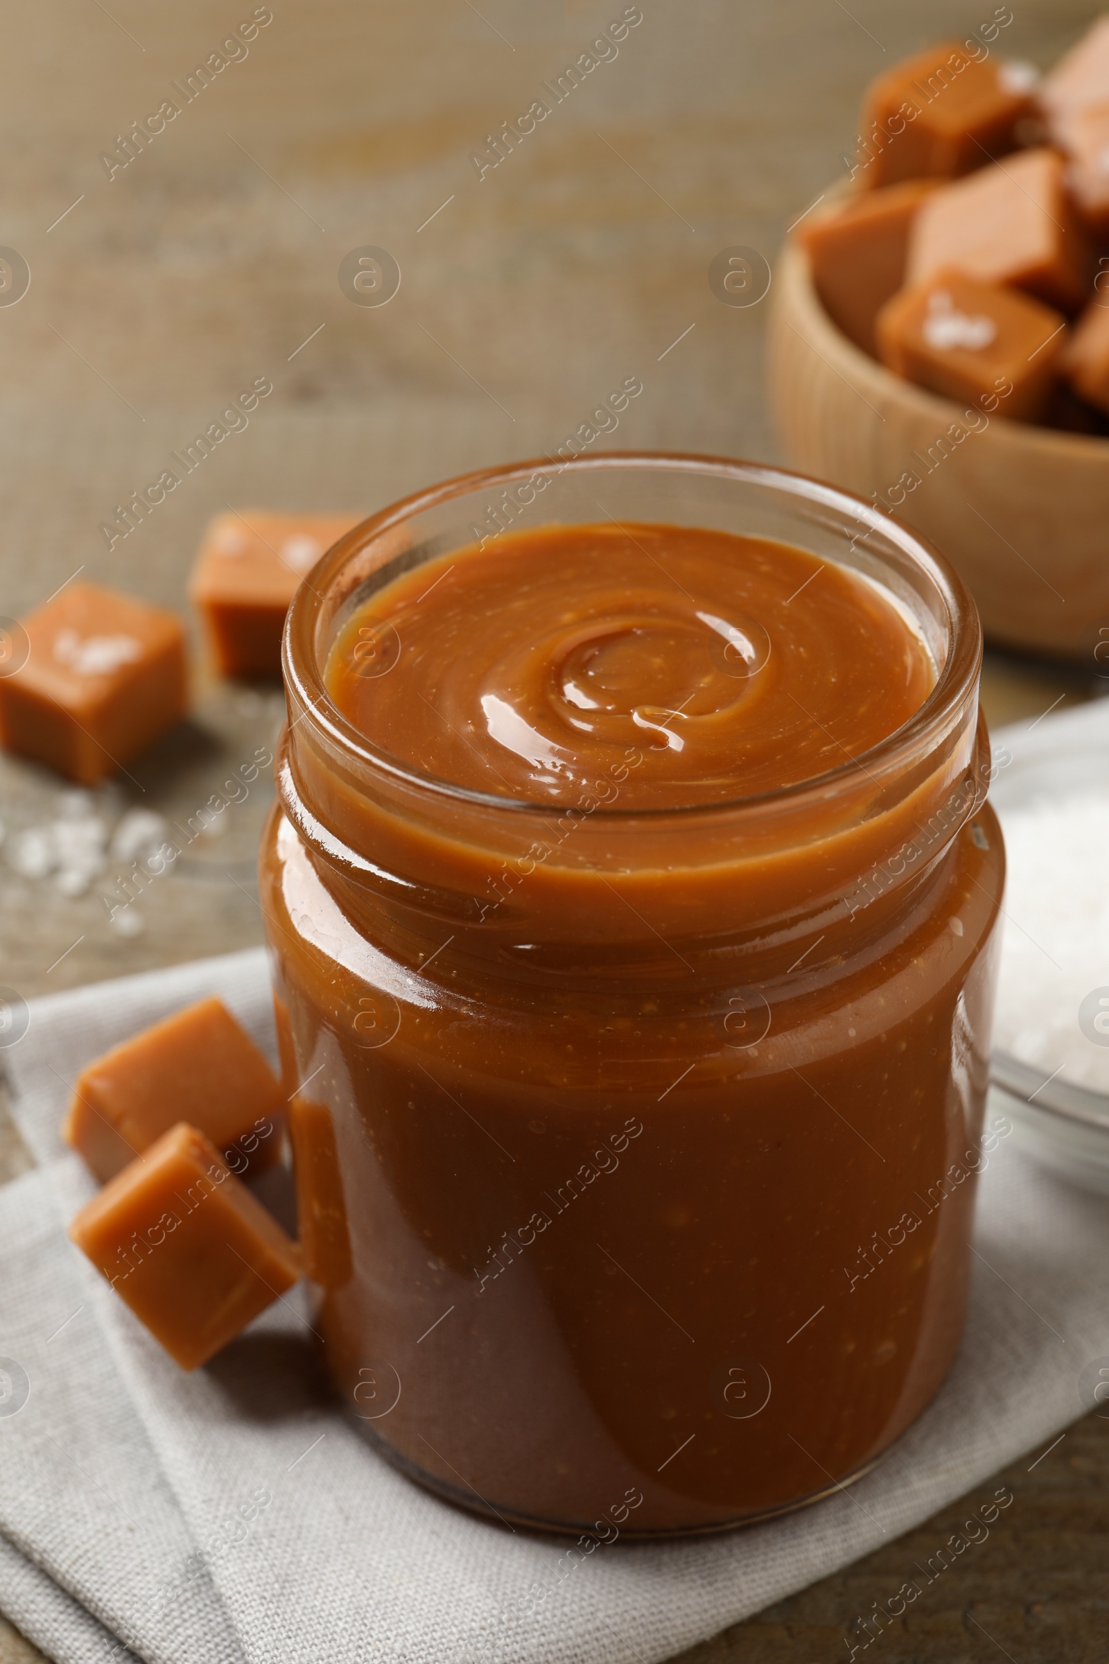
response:
M592 524L604 484L617 522L737 529L850 567L911 617L936 686L861 757L845 749L820 779L730 804L628 810L625 782L645 757L635 749L562 804L432 779L357 730L326 666L367 596L469 547L479 504L514 484L532 498L542 489L544 524ZM909 907L974 814L988 775L979 666L981 631L958 574L908 527L830 486L720 458L610 454L554 473L512 464L382 511L301 586L284 637L279 790L321 882L356 929L396 938L397 952L452 937L444 953L519 965L520 975L525 963L552 975L620 963L628 977L648 967L665 980L667 968L688 975L695 963L708 975L730 960L776 973L821 932L858 937Z

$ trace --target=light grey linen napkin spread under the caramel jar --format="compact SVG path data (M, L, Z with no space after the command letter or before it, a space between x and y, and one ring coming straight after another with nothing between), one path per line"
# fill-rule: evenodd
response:
M73 1077L206 993L273 1057L261 950L38 1000L5 1053L42 1166L0 1190L0 1607L60 1664L655 1664L963 1493L988 1503L991 1474L1092 1404L1109 1203L1003 1137L963 1348L866 1479L768 1524L582 1558L459 1513L361 1441L296 1300L185 1376L63 1235L93 1188L58 1138Z

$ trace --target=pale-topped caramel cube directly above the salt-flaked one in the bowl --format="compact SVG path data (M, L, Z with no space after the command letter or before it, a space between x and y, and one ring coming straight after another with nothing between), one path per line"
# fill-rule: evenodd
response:
M909 233L908 283L948 266L1077 311L1087 248L1064 188L1062 156L1026 150L933 191Z

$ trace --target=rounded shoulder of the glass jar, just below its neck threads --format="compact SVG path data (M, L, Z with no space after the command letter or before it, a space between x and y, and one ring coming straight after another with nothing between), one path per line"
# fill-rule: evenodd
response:
M845 912L833 932L801 942L796 960L765 978L750 953L712 947L698 960L688 942L670 950L652 942L648 960L609 973L585 948L539 968L527 943L509 938L477 958L446 924L419 948L406 940L402 952L396 920L382 915L374 932L364 910L357 925L347 917L279 809L261 862L281 977L339 1037L357 1043L372 1013L386 1013L416 1052L467 1072L559 1078L567 1088L595 1085L599 1060L648 1060L662 1075L667 1062L697 1057L705 1077L730 1080L929 1018L943 1023L994 934L1003 879L1001 832L986 807L919 875L908 904L875 897Z

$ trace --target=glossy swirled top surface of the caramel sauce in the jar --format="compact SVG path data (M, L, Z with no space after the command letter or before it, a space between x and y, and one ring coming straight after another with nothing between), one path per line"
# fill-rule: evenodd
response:
M934 681L866 579L803 549L673 526L552 526L421 566L366 602L326 672L382 750L494 795L622 807L813 779L893 734Z

